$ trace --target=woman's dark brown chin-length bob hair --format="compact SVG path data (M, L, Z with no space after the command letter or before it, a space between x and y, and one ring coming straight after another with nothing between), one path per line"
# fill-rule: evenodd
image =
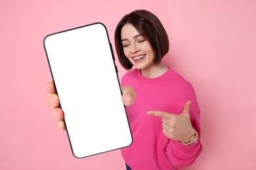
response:
M128 23L132 24L140 35L150 42L150 46L155 54L153 62L156 65L160 63L163 56L169 51L168 35L156 15L148 10L135 10L130 14L123 16L116 26L116 53L123 68L129 70L133 67L129 59L125 57L123 44L121 43L121 29L123 25Z

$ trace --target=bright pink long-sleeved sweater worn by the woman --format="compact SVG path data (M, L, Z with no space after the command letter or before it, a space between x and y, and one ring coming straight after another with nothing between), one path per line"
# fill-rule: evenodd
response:
M121 149L125 163L133 170L171 170L191 165L202 150L200 141L186 146L168 139L163 134L161 118L146 112L181 114L184 103L191 100L192 126L200 134L200 109L192 85L172 69L157 78L145 78L133 69L123 76L121 86L131 86L137 92L135 103L126 107L133 143Z

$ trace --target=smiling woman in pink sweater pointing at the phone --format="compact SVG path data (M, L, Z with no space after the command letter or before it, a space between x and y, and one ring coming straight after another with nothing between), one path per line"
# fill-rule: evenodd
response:
M131 69L121 80L133 134L133 144L121 149L127 169L191 165L202 150L200 109L192 85L161 62L169 51L169 39L160 20L147 10L125 15L117 24L115 44L121 65ZM55 109L57 120L62 120L62 110Z

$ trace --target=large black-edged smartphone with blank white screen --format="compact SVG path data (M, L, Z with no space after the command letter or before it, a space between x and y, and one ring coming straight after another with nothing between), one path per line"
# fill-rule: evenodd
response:
M129 146L133 137L106 26L60 31L43 44L74 156Z

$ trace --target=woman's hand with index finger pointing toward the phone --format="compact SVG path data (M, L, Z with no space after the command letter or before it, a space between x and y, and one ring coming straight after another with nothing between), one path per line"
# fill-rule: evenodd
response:
M190 121L190 103L191 101L187 101L184 104L181 114L171 114L154 110L150 110L147 113L161 118L163 133L169 139L188 143L190 137L196 133Z

